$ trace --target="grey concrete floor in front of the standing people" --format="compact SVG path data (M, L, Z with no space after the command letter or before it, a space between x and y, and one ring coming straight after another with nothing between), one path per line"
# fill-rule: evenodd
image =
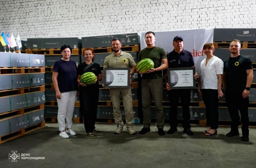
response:
M142 125L135 125L137 135L126 131L114 135L115 124L96 124L95 137L88 137L83 124L73 124L77 133L68 139L58 135L58 124L0 144L0 167L3 168L255 168L256 128L250 128L250 142L240 137L226 137L230 127L220 127L218 135L205 136L206 127L192 126L194 136L178 127L173 135L159 136L156 125L151 132L139 135ZM169 125L164 130L168 131ZM241 129L240 129L241 131ZM241 135L240 135L241 136ZM11 151L44 157L44 160L8 159Z

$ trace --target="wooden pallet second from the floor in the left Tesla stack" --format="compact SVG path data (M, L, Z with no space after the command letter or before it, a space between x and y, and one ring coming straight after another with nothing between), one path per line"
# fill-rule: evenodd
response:
M38 110L38 109L39 110L44 109L44 104L33 105L33 106L22 108L22 109L16 109L16 110L0 113L0 119L10 119L13 117L24 115L24 113L26 112L29 112L32 110Z

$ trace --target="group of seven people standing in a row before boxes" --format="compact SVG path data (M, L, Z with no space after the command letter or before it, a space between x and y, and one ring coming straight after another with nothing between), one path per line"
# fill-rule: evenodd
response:
M187 135L193 135L190 129L190 89L172 89L168 83L167 68L194 67L194 60L189 51L183 49L184 41L180 36L173 39L174 50L166 55L164 49L155 45L155 33L148 31L145 35L146 45L138 54L138 62L148 58L154 62L154 68L145 73L137 71L141 75L142 90L142 113L143 128L140 135L150 132L151 123L151 101L152 98L156 107L156 127L160 136L164 132L164 109L163 101L163 76L166 80L170 100L170 129L168 134L178 131L178 103L182 105L182 127ZM130 79L136 72L136 63L129 53L121 50L122 44L119 39L111 41L113 52L104 60L104 68L130 68ZM202 131L205 135L217 134L218 129L218 99L225 96L228 111L231 117L231 131L227 137L238 136L238 125L240 125L241 114L242 141L249 141L249 118L248 104L250 86L253 79L252 62L247 57L240 55L241 43L233 40L230 43L230 58L226 61L213 55L214 45L206 43L203 47L206 58L200 63L199 71L194 74L198 80L198 93L202 95L206 106L206 119L209 128ZM94 63L94 51L90 48L84 50L85 62L78 65L70 60L72 49L68 45L61 47L62 59L54 64L53 84L56 90L58 102L58 123L60 137L68 138L76 135L71 129L76 91L79 88L80 109L84 117L84 127L89 137L94 137L95 120L98 106L99 84L102 80L100 65ZM93 72L97 76L97 81L86 86L80 82L80 76L85 72ZM104 76L104 74L103 74ZM169 81L170 82L170 81ZM131 88L110 88L110 97L113 106L114 120L117 125L115 134L120 134L124 130L124 122L120 113L120 94L126 116L126 131L131 135L136 134L132 121L134 119L132 109ZM65 119L67 128L65 129Z

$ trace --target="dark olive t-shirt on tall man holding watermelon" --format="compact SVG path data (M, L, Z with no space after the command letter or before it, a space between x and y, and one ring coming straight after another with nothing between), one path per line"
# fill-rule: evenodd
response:
M144 48L142 51L140 51L138 55L138 62L142 59L151 59L154 62L154 68L158 68L162 64L162 59L167 59L166 53L164 49L161 47L153 47L151 49ZM149 74L142 74L143 79L156 79L156 78L162 78L162 70L152 72Z

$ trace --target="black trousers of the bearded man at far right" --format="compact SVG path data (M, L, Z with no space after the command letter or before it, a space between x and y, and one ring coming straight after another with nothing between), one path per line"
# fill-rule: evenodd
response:
M249 116L248 116L248 105L249 98L243 98L242 92L226 92L225 94L226 103L228 106L228 112L231 118L231 130L238 131L238 125L240 125L240 116L242 123L243 136L249 135Z

